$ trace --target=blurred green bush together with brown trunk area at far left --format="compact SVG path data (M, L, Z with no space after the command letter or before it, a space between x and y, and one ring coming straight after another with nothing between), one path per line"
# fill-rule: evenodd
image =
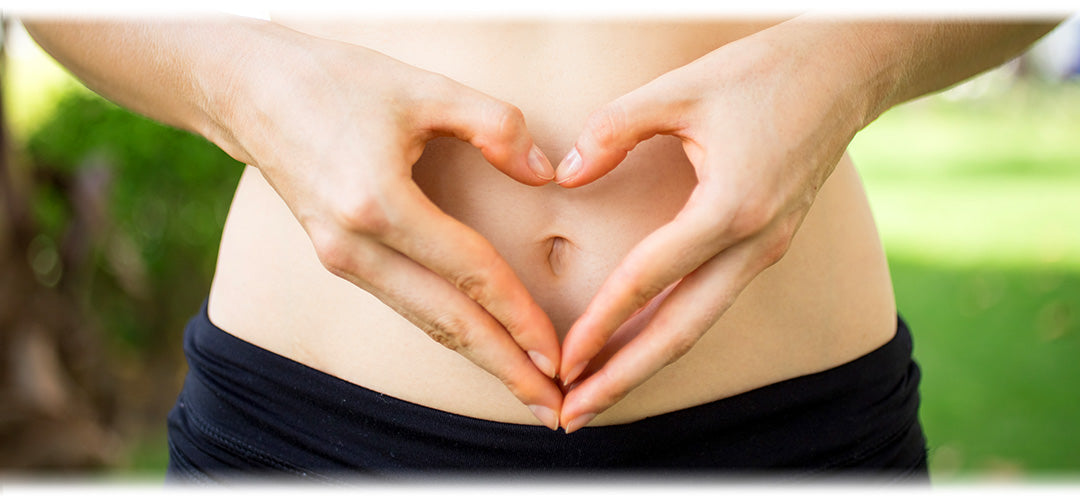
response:
M18 285L0 292L22 311L0 322L0 352L33 377L0 378L0 448L12 459L0 464L132 467L129 448L161 457L148 430L179 391L184 324L208 292L242 165L80 90L25 137L10 179L25 197L11 200L17 224L0 235L5 286ZM53 397L36 397L42 388Z

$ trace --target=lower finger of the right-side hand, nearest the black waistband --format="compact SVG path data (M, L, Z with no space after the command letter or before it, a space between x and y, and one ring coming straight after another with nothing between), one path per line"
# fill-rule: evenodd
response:
M563 401L559 421L573 432L611 407L661 368L686 354L764 267L755 242L743 242L687 275L649 325Z

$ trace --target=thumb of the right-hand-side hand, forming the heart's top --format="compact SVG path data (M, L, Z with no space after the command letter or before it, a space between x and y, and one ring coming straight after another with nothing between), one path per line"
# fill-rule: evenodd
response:
M555 181L575 188L604 176L638 145L685 126L686 107L653 81L597 109L585 120L573 149L555 170Z

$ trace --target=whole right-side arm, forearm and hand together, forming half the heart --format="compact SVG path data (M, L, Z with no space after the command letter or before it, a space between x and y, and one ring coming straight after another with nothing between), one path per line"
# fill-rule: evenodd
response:
M689 351L783 257L856 132L892 106L1008 60L1053 26L800 17L596 110L556 170L558 184L586 185L642 140L666 134L683 140L698 186L671 222L627 254L568 332L559 367L570 384L561 415L567 431ZM590 366L661 292L642 333Z

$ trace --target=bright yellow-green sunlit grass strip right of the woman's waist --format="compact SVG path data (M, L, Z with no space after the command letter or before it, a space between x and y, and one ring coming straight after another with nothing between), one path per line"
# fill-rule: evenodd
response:
M1080 85L934 96L887 112L851 154L890 254L1080 270Z

